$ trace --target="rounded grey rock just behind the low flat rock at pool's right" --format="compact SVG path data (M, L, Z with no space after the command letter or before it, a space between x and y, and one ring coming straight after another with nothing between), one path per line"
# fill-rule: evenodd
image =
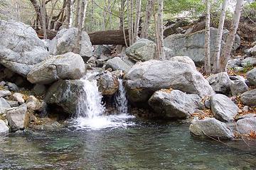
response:
M215 94L210 97L210 108L214 117L224 122L232 121L239 111L238 106L223 94Z

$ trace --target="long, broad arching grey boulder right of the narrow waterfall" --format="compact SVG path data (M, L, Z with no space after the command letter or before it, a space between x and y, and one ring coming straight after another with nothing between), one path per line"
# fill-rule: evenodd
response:
M125 86L133 103L147 102L160 89L178 89L201 97L214 94L208 81L190 64L168 60L135 64L126 74Z

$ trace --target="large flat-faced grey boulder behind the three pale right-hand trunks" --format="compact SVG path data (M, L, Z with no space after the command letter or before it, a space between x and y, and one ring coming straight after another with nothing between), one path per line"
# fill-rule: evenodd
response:
M215 51L215 41L218 35L218 29L210 28L210 57L213 59ZM228 36L228 30L223 30L223 40ZM224 41L222 45L224 45ZM233 50L236 50L240 45L240 38L238 35L235 36L235 43ZM200 30L196 33L184 35L174 34L169 35L164 39L164 46L169 47L176 55L186 55L196 62L201 64L204 62L205 57L205 31ZM213 60L212 60L213 61Z

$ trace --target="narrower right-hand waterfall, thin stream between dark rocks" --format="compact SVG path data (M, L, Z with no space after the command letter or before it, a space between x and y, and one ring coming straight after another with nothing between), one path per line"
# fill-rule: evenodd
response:
M117 108L117 114L127 114L128 113L128 101L126 97L126 91L124 89L122 79L118 79L119 81L119 89L114 97L114 103Z

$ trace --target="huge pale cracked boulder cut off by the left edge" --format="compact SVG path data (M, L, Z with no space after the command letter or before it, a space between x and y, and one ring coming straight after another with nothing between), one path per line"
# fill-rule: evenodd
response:
M0 64L23 77L48 57L46 45L24 23L0 20Z

